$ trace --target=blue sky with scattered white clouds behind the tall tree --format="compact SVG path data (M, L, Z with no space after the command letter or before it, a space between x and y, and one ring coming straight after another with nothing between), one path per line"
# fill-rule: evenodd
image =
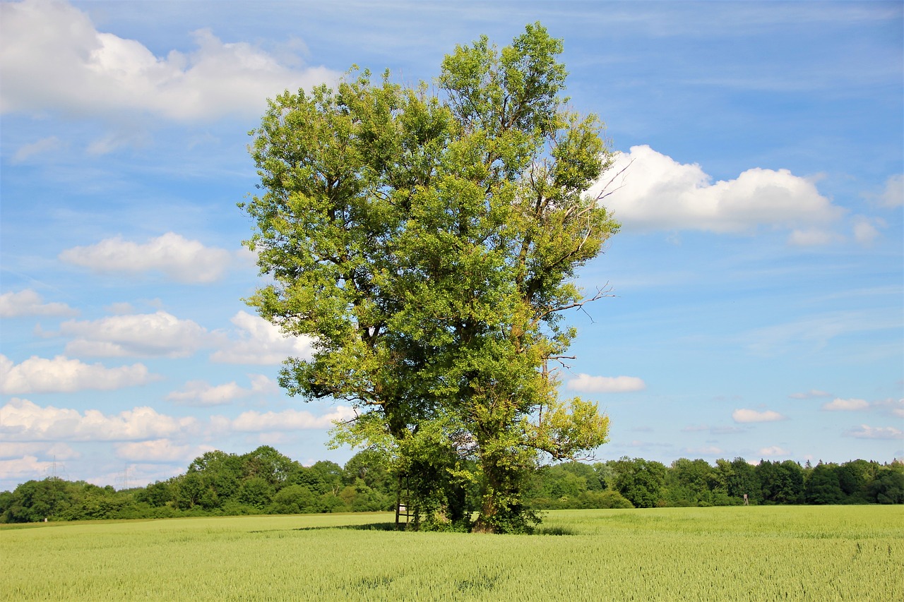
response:
M612 287L562 391L599 459L904 457L899 2L44 2L0 15L0 489L146 484L217 448L343 463L305 355L241 299L268 97L353 63L414 84L540 20L630 164Z

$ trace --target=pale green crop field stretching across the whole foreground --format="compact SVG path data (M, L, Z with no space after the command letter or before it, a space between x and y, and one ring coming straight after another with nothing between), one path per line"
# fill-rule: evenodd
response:
M536 535L388 513L0 529L6 600L900 600L900 506L547 514Z

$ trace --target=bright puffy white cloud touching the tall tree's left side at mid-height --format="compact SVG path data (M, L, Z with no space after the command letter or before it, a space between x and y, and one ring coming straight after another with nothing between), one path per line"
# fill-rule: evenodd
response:
M310 359L311 339L306 336L286 336L277 325L259 315L240 311L231 322L240 329L239 340L231 341L220 351L212 353L213 362L278 364L288 357Z

